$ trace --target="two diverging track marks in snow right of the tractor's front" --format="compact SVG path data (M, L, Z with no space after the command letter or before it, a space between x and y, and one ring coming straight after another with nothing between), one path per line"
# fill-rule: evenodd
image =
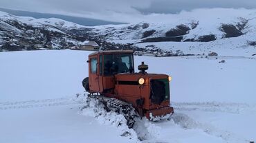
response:
M177 113L172 115L172 120L175 124L179 124L183 129L201 129L209 135L221 137L226 142L250 142L244 137L232 133L232 131L226 131L210 123L202 123L193 120L185 113L179 113L179 111L205 111L213 113L235 113L244 115L244 113L255 113L256 104L235 103L235 102L172 102L174 109Z

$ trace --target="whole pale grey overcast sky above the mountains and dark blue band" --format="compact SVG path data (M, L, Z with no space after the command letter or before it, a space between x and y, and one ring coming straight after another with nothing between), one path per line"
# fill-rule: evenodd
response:
M197 8L256 9L256 0L0 0L1 8L131 22L152 13Z

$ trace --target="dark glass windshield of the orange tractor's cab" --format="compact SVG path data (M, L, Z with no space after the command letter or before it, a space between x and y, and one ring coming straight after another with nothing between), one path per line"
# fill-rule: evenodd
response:
M104 55L104 75L134 72L132 54L106 54Z

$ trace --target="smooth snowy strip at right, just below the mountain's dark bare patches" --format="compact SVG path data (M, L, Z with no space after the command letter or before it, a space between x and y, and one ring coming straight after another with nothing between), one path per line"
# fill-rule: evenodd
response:
M158 43L138 43L138 47L145 48L148 45L154 45L163 51L181 51L184 54L200 54L208 56L210 52L217 52L219 56L236 56L241 58L253 58L256 53L256 47L248 46L248 41L238 37L232 39L219 39L212 42L158 42ZM151 48L146 47L147 50Z

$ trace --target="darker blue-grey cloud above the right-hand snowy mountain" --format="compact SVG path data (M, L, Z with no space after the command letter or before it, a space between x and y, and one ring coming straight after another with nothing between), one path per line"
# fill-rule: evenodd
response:
M247 8L255 9L255 0L158 0L152 1L147 8L136 8L144 14L154 13L178 13L182 10L194 10L198 8Z

